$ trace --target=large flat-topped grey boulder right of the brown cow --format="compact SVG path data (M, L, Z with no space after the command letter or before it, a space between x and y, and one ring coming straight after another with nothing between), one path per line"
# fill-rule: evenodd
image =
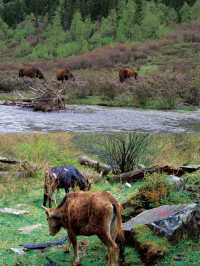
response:
M125 233L137 224L148 225L169 240L178 241L200 236L200 202L164 205L147 210L123 224Z

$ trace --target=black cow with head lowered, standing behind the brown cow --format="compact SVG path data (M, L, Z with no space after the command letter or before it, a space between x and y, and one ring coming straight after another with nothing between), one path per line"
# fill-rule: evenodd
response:
M91 184L89 181L73 166L58 166L49 168L45 172L44 178L44 198L43 206L46 206L47 200L49 207L51 207L51 201L53 193L64 188L65 192L69 192L69 188L75 188L79 186L80 190L89 190Z

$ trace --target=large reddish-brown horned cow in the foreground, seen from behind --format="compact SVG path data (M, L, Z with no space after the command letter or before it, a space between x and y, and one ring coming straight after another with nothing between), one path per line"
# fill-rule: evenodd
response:
M45 208L49 232L56 235L63 227L74 249L73 265L79 265L78 235L97 235L108 249L108 265L117 266L123 240L122 207L110 192L70 192L57 208Z

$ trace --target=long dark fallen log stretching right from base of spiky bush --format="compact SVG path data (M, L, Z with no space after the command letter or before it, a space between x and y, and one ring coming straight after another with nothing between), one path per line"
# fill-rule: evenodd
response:
M180 177L185 173L185 171L182 168L173 168L168 165L153 166L115 175L113 176L113 180L130 183L143 179L146 174L153 174L153 173L166 173L168 175L175 175Z

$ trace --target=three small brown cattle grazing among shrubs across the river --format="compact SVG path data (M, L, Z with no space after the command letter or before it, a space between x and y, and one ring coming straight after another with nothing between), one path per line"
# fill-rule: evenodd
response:
M39 78L45 80L42 71L37 67L26 67L19 70L19 77L29 77L29 78ZM119 80L124 82L126 79L134 77L137 80L138 72L131 68L122 68L119 70ZM58 69L56 72L56 79L58 81L64 82L67 80L75 80L74 75L69 67Z

